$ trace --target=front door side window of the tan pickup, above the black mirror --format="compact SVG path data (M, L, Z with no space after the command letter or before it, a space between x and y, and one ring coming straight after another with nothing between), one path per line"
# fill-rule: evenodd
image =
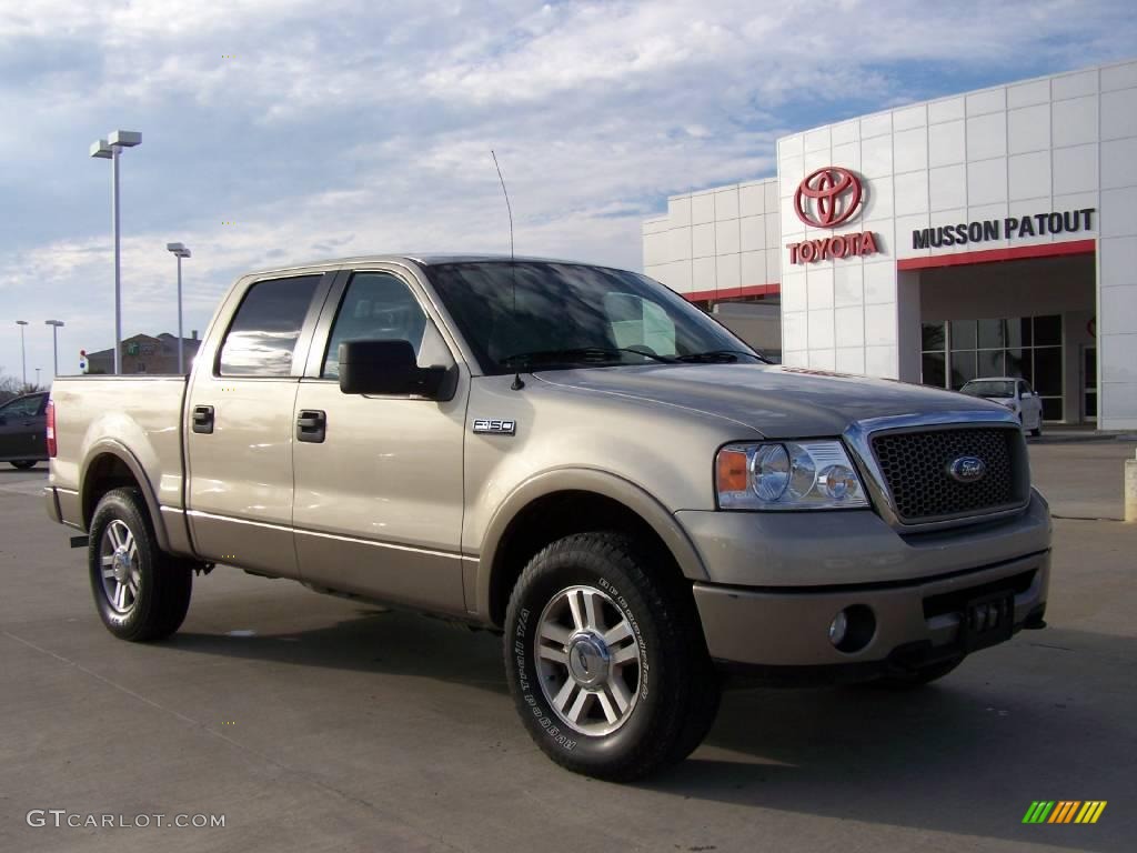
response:
M406 340L420 367L448 366L450 351L414 293L390 273L351 276L327 338L321 376L339 379L340 343L346 340Z

